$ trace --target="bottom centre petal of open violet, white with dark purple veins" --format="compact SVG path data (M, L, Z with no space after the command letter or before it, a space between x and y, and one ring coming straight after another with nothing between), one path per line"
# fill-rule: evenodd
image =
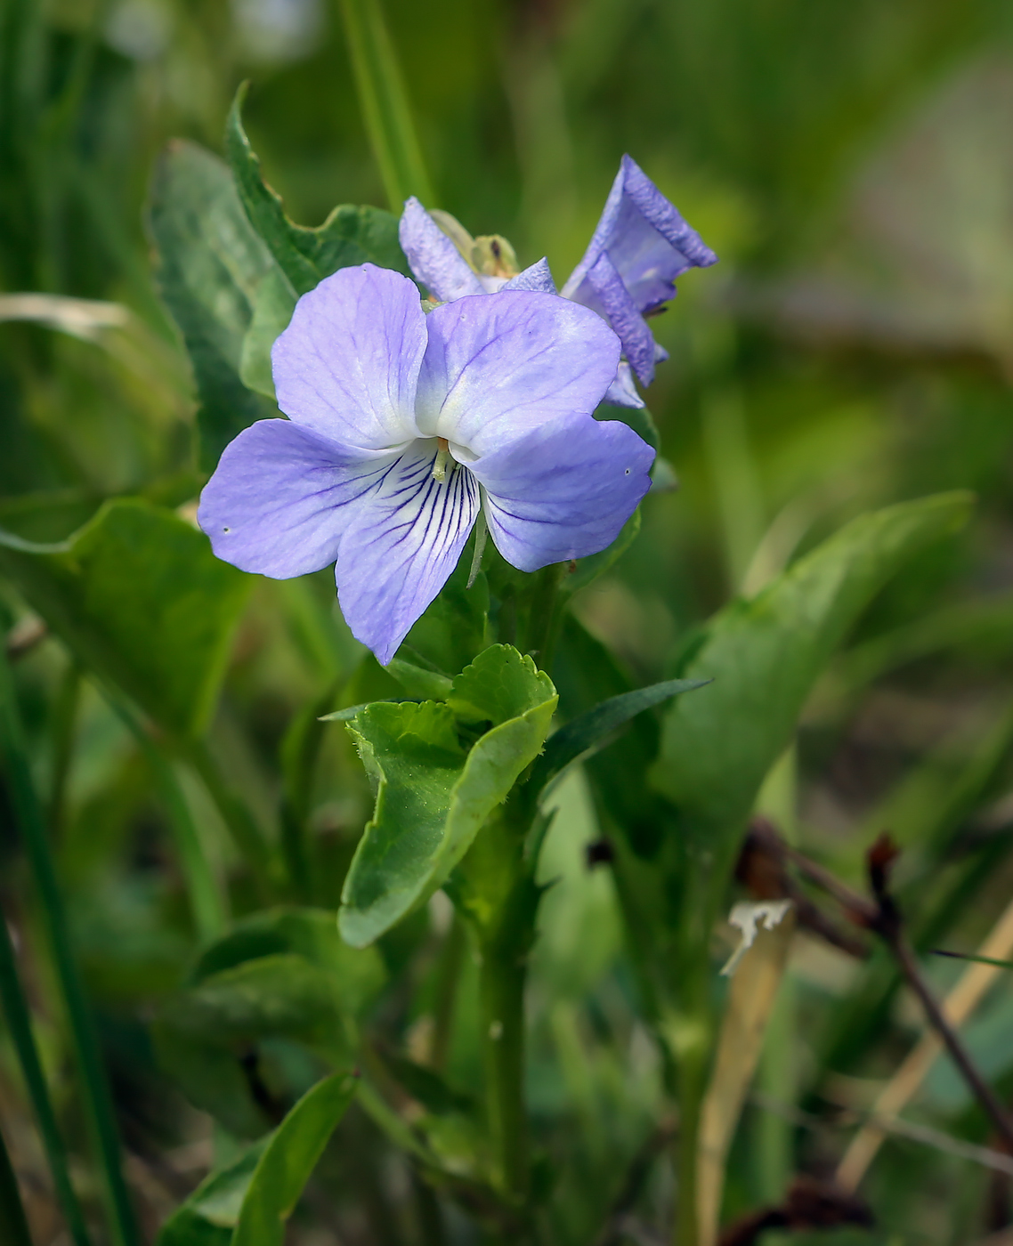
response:
M350 513L338 601L353 635L386 664L454 571L478 512L466 467L432 478L436 446L416 442Z

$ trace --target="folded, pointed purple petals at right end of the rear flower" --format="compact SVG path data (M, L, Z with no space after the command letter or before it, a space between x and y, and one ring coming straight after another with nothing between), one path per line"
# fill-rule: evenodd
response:
M639 312L667 303L687 269L718 260L629 156L623 156L587 252L563 287L567 298L588 302L588 278L602 254L609 255Z

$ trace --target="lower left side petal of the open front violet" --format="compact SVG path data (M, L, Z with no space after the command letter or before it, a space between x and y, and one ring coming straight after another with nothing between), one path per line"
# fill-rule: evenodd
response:
M224 562L274 579L304 576L338 557L348 503L392 457L349 454L289 420L260 420L226 446L197 522Z

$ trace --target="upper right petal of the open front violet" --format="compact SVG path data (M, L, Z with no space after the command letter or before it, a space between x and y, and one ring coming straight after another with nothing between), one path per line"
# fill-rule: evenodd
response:
M459 299L431 312L426 326L419 427L472 456L562 415L589 414L619 361L608 325L554 294Z

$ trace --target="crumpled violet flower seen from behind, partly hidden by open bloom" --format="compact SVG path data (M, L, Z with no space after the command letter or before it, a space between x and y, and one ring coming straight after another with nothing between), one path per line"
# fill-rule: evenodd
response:
M511 279L476 273L415 198L405 203L400 238L412 273L440 302L482 290L556 290L545 259ZM623 156L584 257L561 290L563 298L597 312L623 344L624 358L606 401L644 405L633 373L642 385L649 385L654 364L668 358L654 341L645 316L675 297L677 277L716 260L639 164Z

